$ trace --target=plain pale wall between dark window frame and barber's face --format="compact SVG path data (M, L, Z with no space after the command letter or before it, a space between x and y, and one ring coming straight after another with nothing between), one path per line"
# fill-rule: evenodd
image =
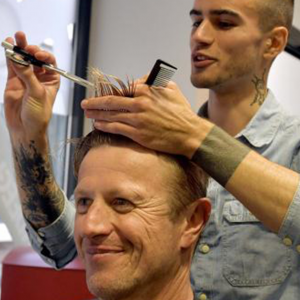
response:
M148 73L157 58L174 64L174 80L196 110L190 83L189 12L193 0L93 1L90 66L126 78Z

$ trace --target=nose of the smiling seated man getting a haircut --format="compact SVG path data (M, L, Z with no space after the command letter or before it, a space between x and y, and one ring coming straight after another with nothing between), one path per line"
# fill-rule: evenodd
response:
M83 234L89 238L110 235L112 218L113 214L106 204L94 202L85 216Z

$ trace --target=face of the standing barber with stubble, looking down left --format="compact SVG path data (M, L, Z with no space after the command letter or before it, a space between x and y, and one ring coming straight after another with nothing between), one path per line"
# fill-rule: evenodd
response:
M265 36L253 1L195 0L192 30L191 82L198 88L252 87L264 69Z

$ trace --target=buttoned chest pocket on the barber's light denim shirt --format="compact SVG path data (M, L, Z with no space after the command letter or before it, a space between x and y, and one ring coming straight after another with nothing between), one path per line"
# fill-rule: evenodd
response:
M291 249L237 200L224 206L223 276L236 287L280 284L291 270Z

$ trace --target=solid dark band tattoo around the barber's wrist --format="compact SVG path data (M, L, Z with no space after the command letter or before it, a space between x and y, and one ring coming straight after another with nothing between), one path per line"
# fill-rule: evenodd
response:
M193 155L192 161L225 187L249 152L248 147L214 126Z

